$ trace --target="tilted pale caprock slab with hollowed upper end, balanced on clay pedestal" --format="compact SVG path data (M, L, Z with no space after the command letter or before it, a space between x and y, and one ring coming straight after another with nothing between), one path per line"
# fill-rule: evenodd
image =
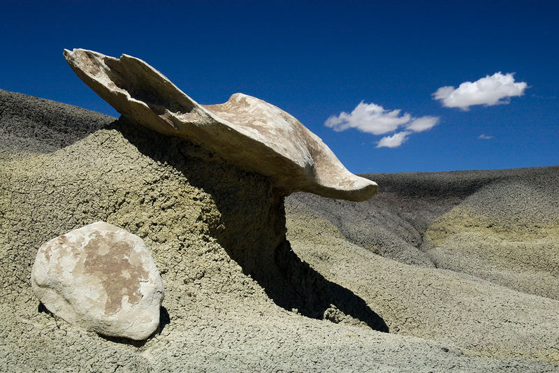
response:
M350 173L318 136L266 101L233 94L226 103L199 105L135 57L116 59L82 49L64 50L64 57L123 117L268 176L285 195L308 191L361 201L377 192L375 182Z

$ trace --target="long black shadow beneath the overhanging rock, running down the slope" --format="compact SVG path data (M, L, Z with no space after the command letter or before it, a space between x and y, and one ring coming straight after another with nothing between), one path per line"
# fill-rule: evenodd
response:
M347 288L328 281L291 250L286 240L284 197L267 177L224 163L190 142L119 119L114 128L151 159L180 171L212 196L219 222L210 235L266 291L275 304L312 319L335 323L350 316L388 332L381 316Z

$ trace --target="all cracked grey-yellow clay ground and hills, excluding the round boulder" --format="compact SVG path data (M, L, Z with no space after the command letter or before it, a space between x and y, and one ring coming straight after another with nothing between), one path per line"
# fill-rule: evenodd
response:
M0 371L559 372L559 168L361 175L282 197L188 140L0 91ZM165 289L103 337L31 292L38 247L106 221Z

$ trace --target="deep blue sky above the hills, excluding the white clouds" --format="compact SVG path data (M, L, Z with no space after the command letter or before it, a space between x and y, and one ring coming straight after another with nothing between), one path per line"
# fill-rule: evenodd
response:
M117 115L64 61L82 47L273 103L354 173L559 164L559 1L115 3L0 0L0 88Z

